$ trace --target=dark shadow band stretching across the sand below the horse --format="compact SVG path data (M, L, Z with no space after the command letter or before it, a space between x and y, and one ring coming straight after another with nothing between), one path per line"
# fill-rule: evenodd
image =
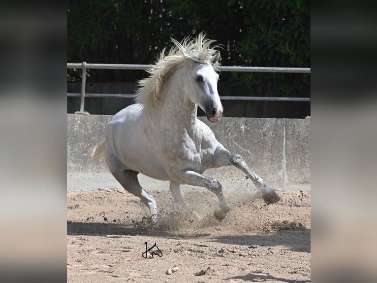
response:
M179 234L179 231L172 233L168 230L158 230L148 227L133 227L132 225L117 223L98 222L69 222L67 223L67 235L103 236L128 235L128 236L152 236L162 238L183 238L194 239L211 236L208 241L218 242L227 245L245 246L286 246L291 250L310 252L310 229L303 231L283 231L261 233L259 235L221 235L214 236L206 233ZM289 236L289 237L287 237Z

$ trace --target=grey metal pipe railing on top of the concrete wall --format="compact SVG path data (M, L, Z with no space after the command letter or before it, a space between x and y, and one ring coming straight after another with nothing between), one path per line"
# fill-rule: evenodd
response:
M135 94L112 94L112 93L85 93L87 69L106 69L106 70L146 70L151 65L133 64L88 64L67 63L67 69L82 69L81 93L67 93L68 97L81 97L80 110L75 114L89 114L84 110L85 97L104 97L104 98L136 98ZM238 72L284 72L284 73L310 73L310 68L279 68L279 67L239 67L239 66L220 66L219 71L238 71ZM240 100L240 101L295 101L310 102L310 98L303 97L262 97L262 96L220 96L221 100Z

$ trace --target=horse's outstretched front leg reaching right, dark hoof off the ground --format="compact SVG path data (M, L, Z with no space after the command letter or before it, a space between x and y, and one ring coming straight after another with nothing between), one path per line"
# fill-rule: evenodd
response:
M276 203L280 200L280 196L272 188L266 185L261 177L258 177L252 172L241 155L233 154L224 147L218 147L214 154L214 163L216 167L233 165L238 169L241 169L248 177L250 177L254 185L260 190L262 199L267 205Z

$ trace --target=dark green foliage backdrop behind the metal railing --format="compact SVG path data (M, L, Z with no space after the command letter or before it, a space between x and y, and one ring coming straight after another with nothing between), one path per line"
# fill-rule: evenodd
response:
M224 66L310 67L308 0L75 0L67 8L68 62L150 64L171 45L170 37L182 40L204 31L222 45ZM145 75L90 73L89 81ZM246 85L252 95L293 96L308 88L310 75L223 72L221 81Z

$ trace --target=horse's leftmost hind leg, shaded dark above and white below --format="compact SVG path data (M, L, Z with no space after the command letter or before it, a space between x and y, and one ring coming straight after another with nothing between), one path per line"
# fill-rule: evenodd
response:
M117 179L117 181L126 189L126 191L141 199L143 204L145 204L149 208L152 219L156 220L156 199L150 194L148 194L147 191L140 186L139 180L137 179L137 175L139 174L139 172L133 170L124 170L111 173Z

